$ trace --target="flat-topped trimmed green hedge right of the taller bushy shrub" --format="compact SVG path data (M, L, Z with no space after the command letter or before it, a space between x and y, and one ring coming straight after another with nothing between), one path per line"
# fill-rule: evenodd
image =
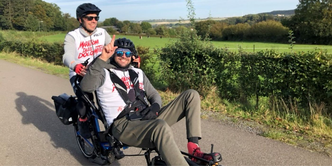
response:
M332 102L332 60L325 52L240 52L218 60L217 85L224 97Z

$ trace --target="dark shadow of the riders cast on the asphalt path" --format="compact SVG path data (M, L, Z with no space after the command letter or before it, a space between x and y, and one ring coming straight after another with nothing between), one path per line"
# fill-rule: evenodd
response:
M22 124L34 124L47 132L54 148L66 149L81 165L95 165L86 159L77 145L72 125L63 125L53 111L53 103L24 92L16 93L16 110L22 115ZM50 97L51 98L51 97ZM114 162L112 165L120 165Z

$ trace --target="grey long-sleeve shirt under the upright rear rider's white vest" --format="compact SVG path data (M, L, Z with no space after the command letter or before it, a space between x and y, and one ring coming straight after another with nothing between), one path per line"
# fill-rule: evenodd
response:
M82 26L79 27L79 31L82 36L88 37L90 36L83 28ZM95 29L91 35L95 34L97 29ZM105 43L104 45L108 44L111 42L111 36L106 32L105 30ZM78 63L71 63L75 61L75 52L76 52L76 45L75 45L75 39L73 36L67 34L64 38L64 54L62 55L62 62L64 65L69 67L71 70L74 70L74 67Z

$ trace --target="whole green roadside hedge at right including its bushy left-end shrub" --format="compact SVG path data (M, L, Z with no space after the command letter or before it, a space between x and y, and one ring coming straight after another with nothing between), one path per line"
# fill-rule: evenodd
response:
M169 88L192 88L206 96L213 86L224 99L277 97L288 101L332 102L332 60L326 52L260 51L255 53L215 48L195 32L162 48L162 78Z

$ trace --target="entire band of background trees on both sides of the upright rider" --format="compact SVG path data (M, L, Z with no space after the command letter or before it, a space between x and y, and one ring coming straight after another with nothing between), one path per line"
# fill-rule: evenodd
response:
M54 3L42 0L0 0L0 29L24 31L70 31L79 26L76 18L62 13ZM190 24L151 25L108 18L98 26L116 26L121 33L175 36L191 30ZM332 44L332 1L299 0L295 14L279 17L250 14L221 21L199 21L194 26L199 36L211 40L287 42L288 31L296 43ZM113 28L107 28L114 33Z

